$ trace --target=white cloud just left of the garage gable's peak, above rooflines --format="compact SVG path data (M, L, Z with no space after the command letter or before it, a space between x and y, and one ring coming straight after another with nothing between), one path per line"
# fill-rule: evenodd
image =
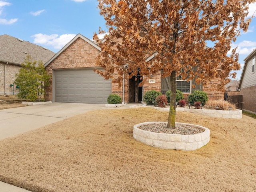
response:
M31 37L34 37L34 43L48 46L50 45L53 46L54 49L61 49L75 36L76 34L63 34L61 36L58 36L57 34L46 35L38 33Z

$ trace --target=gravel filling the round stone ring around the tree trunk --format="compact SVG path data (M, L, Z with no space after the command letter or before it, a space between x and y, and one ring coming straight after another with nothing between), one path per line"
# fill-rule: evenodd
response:
M204 128L186 124L175 124L175 129L168 129L166 123L144 124L139 129L156 133L194 135L205 131Z

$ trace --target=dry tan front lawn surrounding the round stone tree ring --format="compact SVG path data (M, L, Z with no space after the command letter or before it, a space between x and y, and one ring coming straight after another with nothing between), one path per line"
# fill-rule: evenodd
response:
M0 141L0 180L36 192L253 192L256 119L177 112L210 129L194 151L153 148L133 125L166 121L151 108L95 110Z

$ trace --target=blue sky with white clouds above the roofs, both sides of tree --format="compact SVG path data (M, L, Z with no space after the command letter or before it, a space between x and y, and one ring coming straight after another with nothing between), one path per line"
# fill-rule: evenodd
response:
M106 29L97 0L0 0L0 35L8 34L57 53L78 33L92 39L99 26ZM256 11L251 4L249 16ZM256 16L256 13L255 13ZM256 18L232 47L238 46L239 62L256 48ZM237 71L239 80L242 68Z

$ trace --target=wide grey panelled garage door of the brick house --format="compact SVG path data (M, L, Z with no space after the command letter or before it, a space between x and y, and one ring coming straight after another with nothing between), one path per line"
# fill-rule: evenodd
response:
M90 69L56 70L55 102L107 103L111 80Z

